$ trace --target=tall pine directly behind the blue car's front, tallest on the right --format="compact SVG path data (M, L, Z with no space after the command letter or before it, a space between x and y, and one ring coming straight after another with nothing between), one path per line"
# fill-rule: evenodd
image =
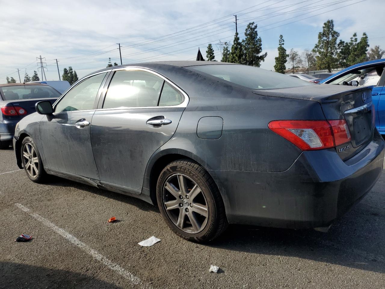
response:
M323 24L322 32L318 33L318 43L315 45L313 52L316 53L316 65L318 69L327 69L331 72L338 64L336 58L337 38L340 36L334 30L333 20L328 20Z

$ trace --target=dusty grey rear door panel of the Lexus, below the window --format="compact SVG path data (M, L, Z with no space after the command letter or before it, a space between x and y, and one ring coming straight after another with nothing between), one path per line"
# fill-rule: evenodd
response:
M140 193L148 160L175 133L183 111L183 107L97 110L91 123L91 143L100 181ZM171 123L147 124L157 117Z

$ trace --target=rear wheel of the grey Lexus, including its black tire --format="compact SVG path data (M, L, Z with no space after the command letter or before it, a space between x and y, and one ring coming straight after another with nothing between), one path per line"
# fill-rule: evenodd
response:
M159 175L157 203L170 229L195 242L214 240L226 230L223 200L213 178L190 160L177 160Z

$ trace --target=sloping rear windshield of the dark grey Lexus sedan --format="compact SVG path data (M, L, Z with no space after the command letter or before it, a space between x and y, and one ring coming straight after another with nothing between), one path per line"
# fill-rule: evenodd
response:
M296 79L278 72L268 71L254 66L236 64L216 64L185 67L201 71L250 89L280 89L314 85L312 82Z

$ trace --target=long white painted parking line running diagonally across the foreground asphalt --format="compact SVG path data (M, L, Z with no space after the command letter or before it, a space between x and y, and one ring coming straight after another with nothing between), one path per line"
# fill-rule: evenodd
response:
M22 204L15 203L15 205L16 205L16 207L18 207L23 212L26 212L28 215L30 215L33 218L35 218L36 220L42 222L45 226L49 227L50 229L52 229L57 234L59 234L62 237L64 237L64 239L67 239L69 242L71 242L72 244L76 245L77 247L82 249L87 254L91 255L94 259L96 259L99 262L103 263L107 268L109 268L112 271L115 271L115 272L121 274L123 277L128 279L132 284L138 285L140 288L143 288L143 289L152 289L151 286L149 286L147 284L144 284L141 281L141 279L139 279L138 277L134 276L130 272L126 271L126 269L124 269L120 265L118 265L118 264L112 262L111 260L107 259L106 257L104 257L102 254L98 253L94 249L88 247L85 243L81 242L79 239L77 239L76 237L72 236L70 233L66 232L65 230L57 227L57 225L55 225L54 223L50 222L46 218L41 217L37 213L33 213L30 209L28 209L27 207L23 206Z

